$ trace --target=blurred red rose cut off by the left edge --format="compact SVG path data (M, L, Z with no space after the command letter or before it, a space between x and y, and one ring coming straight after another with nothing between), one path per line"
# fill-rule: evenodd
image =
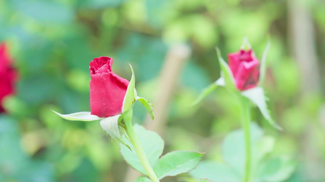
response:
M3 98L15 92L17 73L11 63L5 43L0 43L0 112L5 111L2 107Z

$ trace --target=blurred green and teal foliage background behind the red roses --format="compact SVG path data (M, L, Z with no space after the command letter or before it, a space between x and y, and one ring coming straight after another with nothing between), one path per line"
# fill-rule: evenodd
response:
M99 122L50 111L90 110L89 62L99 56L112 57L114 72L128 80L132 64L138 95L157 106L151 121L136 103L133 121L158 130L164 153L196 150L221 160L220 142L240 128L236 100L218 88L190 105L220 76L215 46L226 59L248 36L261 58L267 35L264 87L284 131L257 108L253 119L276 138L271 155L298 161L288 181L324 181L323 0L0 0L0 41L19 72L16 94L2 103L0 181L130 182L134 172Z

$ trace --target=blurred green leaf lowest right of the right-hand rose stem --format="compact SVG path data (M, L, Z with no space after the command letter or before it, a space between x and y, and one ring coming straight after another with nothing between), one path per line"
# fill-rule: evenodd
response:
M296 166L296 162L287 157L277 157L267 161L258 172L259 181L279 182L288 179Z

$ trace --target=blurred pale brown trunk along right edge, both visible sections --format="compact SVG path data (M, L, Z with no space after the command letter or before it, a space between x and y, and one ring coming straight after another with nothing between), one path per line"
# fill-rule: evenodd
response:
M305 3L302 0L288 1L289 34L292 53L301 74L302 97L321 92L313 21ZM317 132L315 129L319 129L319 126L313 124L316 122L310 122L312 120L314 120L312 117L306 120L309 124L305 128L300 145L305 158L308 179L318 181L325 177L325 166L317 146L312 142L315 140L314 133Z

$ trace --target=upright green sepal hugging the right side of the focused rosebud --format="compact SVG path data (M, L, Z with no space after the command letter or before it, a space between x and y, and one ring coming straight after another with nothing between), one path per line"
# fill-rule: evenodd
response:
M134 71L133 71L133 68L131 66L131 64L129 64L130 67L131 67L131 71L132 71L132 77L131 77L131 80L130 80L130 83L129 85L127 86L127 89L126 89L126 93L125 93L125 97L124 97L124 100L123 100L123 106L122 106L122 112L126 112L128 111L134 104L135 102L135 98L134 98L134 93L135 93L135 77L134 77Z

